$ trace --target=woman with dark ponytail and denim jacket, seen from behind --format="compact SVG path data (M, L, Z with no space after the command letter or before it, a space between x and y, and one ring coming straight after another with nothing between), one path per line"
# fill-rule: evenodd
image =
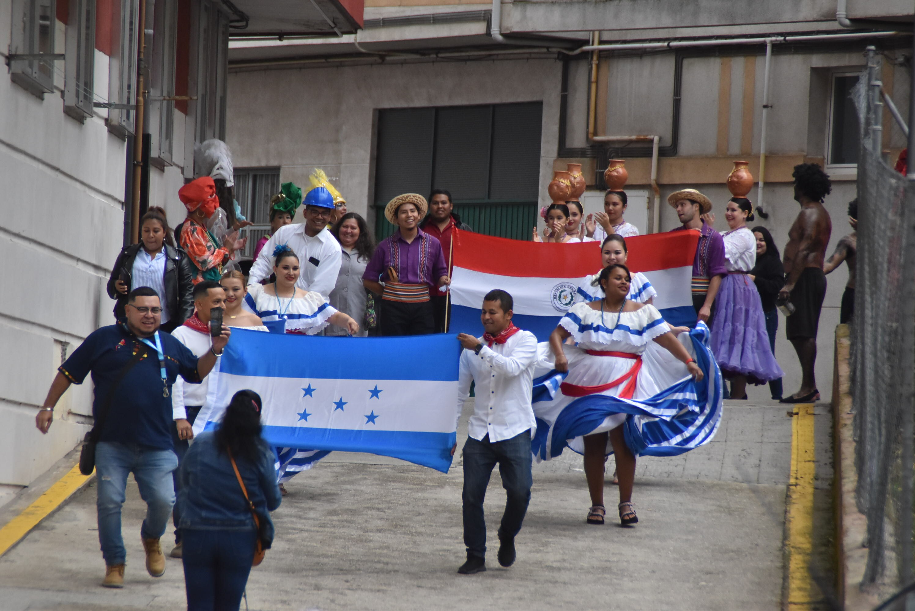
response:
M219 428L197 435L181 463L178 503L188 611L238 609L254 544L258 538L265 547L273 541L269 512L280 506L281 496L273 449L261 437L261 408L256 392L236 392ZM260 531L238 477L261 521Z

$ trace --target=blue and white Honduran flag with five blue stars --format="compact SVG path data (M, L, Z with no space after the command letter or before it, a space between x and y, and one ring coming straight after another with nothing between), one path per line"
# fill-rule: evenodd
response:
M210 372L195 433L215 428L232 395L261 395L277 447L393 456L447 473L457 436L455 335L325 338L232 329Z

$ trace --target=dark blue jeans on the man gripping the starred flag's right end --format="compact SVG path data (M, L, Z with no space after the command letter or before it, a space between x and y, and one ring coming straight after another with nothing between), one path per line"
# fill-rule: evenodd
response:
M477 441L467 438L464 444L464 544L468 554L486 557L486 520L483 499L490 484L492 468L499 464L502 488L505 488L505 513L499 536L511 538L521 531L524 514L531 502L531 431L511 439L490 443L490 436Z

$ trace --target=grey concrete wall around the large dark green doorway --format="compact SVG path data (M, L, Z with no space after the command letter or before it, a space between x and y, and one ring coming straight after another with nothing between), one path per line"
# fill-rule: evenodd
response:
M228 142L235 166L280 166L281 180L299 186L324 168L339 177L347 208L365 215L375 109L542 101L545 185L557 150L560 74L554 59L232 72Z

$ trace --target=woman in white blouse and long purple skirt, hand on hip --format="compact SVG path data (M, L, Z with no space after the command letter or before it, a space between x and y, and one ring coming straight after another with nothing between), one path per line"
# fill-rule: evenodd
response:
M715 300L710 348L731 381L731 399L746 399L747 381L764 384L778 380L782 371L772 355L759 291L747 275L756 264L756 237L747 227L753 220L749 199L728 201L725 220L731 228L722 235L727 276Z

